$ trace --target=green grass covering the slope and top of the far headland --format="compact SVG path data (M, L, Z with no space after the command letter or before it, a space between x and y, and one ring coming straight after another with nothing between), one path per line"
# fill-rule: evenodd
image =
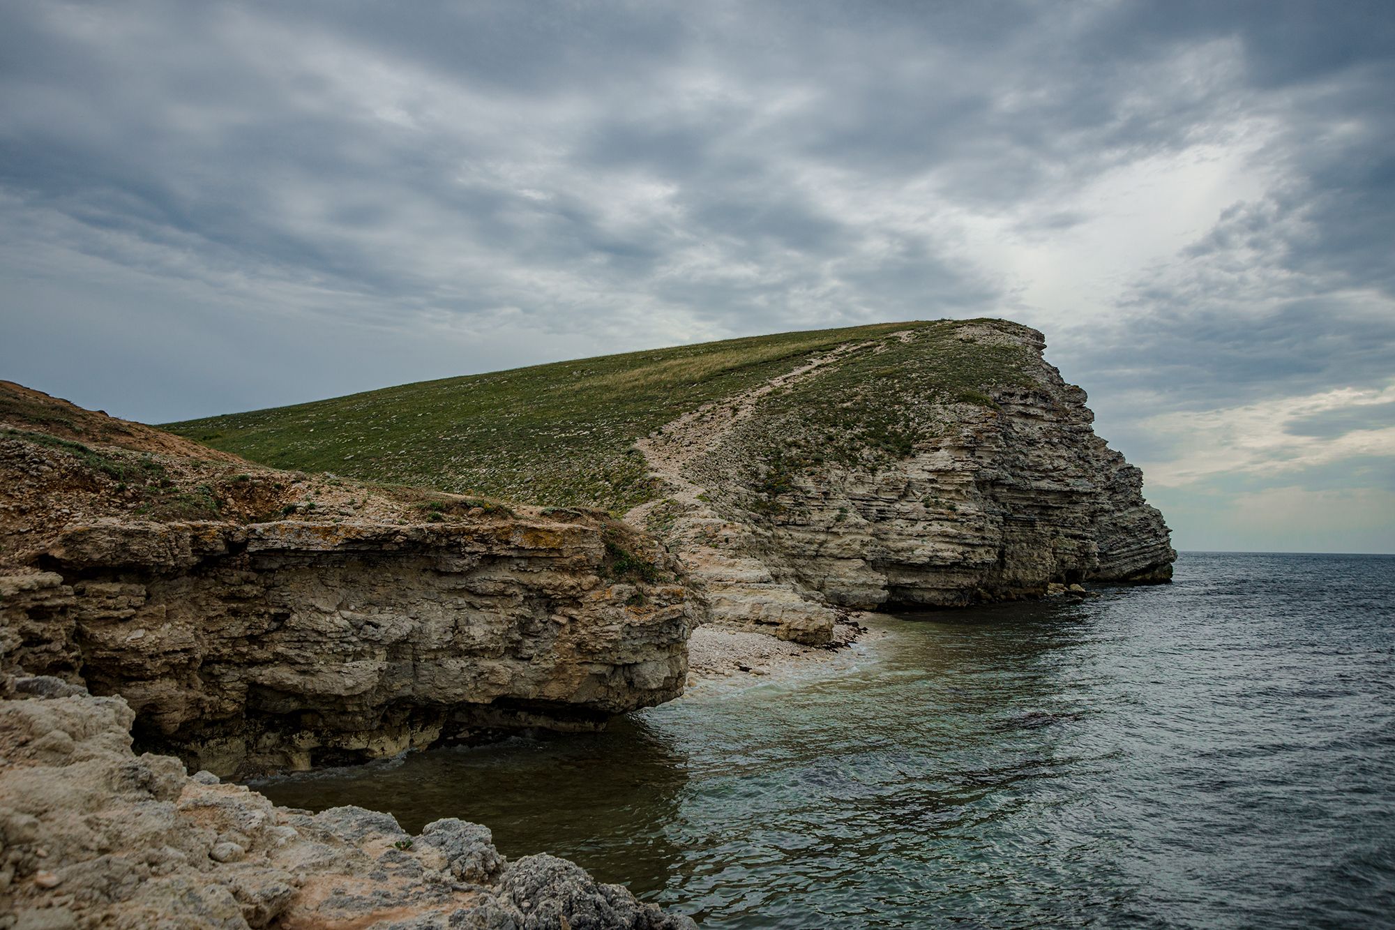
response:
M1024 377L1021 350L964 342L961 325L886 323L629 352L421 381L165 429L265 465L624 512L654 496L631 444L678 415L788 371L816 353L869 344L799 402L841 445L907 454L897 411ZM907 331L914 338L901 335ZM813 394L810 394L813 391ZM794 398L785 398L785 402ZM773 404L781 398L771 397Z

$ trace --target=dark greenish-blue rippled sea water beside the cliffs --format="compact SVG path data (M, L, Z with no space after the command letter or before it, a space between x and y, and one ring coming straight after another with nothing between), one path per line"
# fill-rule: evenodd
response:
M1102 592L258 788L478 821L704 927L1395 926L1395 557L1186 553Z

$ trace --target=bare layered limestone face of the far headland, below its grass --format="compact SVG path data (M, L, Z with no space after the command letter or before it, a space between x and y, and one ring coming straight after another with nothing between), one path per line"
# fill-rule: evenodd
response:
M993 399L992 412L964 405L951 434L898 466L797 480L783 511L751 515L755 550L797 588L861 609L1170 578L1162 517L1138 469L1091 434L1088 411L1045 391Z

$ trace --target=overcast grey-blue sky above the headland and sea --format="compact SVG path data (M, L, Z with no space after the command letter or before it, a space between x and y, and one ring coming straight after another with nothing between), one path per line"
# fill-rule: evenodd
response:
M145 422L1046 334L1179 549L1395 552L1395 4L0 0L0 377Z

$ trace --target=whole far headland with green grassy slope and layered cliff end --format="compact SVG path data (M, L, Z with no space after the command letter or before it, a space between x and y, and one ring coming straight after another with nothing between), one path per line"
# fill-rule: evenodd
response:
M716 623L820 644L840 609L1170 578L1141 473L1043 350L1003 320L880 324L173 429L272 464L624 512L678 556Z

